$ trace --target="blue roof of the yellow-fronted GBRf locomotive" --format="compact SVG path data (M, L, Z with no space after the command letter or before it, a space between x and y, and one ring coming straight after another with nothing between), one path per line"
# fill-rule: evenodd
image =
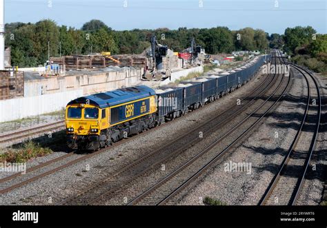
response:
M96 105L97 107L105 108L119 105L121 103L143 99L153 95L155 95L155 90L152 90L152 88L146 85L137 85L134 87L124 87L118 90L112 90L110 92L101 92L99 94L92 94L90 96L82 96L78 99L70 101L68 105L76 103L85 104L87 101L89 101L90 105Z

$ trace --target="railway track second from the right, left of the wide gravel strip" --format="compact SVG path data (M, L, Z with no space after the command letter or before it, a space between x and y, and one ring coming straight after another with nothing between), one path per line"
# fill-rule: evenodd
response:
M241 141L241 139L244 138L244 136L246 136L246 134L248 134L248 132L250 132L250 130L255 127L255 125L257 125L257 123L259 123L259 121L261 121L261 119L264 118L264 116L266 116L270 110L273 109L273 107L275 107L281 97L283 97L288 90L289 85L290 78L288 78L286 87L282 90L281 94L278 95L278 99L274 101L273 104L270 105L263 114L260 114L260 117L257 118L257 121L251 123L251 125L247 127L245 131L237 136L237 138L233 140L232 143L225 147L225 149L223 149L221 152L217 153L217 150L215 149L218 143L221 142L221 138L230 136L230 132L235 131L235 129L239 129L239 127L244 124L248 118L244 119L244 121L236 125L233 129L230 130L230 132L227 132L221 138L217 138L217 140L208 145L208 147L204 148L199 154L197 154L197 156L188 160L188 162L184 163L184 165L181 165L179 168L175 169L174 172L162 178L158 183L143 192L143 194L137 196L137 198L134 198L132 201L130 201L130 203L128 203L128 205L165 205L168 203L175 196L177 196L177 194L179 194L182 189L190 185L192 181L206 172L208 168L212 167L212 165L214 165L217 160L221 158L221 156L224 156L224 154L226 154L233 145ZM275 92L277 92L277 90L280 88L281 83ZM273 97L275 92L271 94L268 99L266 99L265 103ZM253 111L250 116L252 116L252 114L256 114L261 107Z

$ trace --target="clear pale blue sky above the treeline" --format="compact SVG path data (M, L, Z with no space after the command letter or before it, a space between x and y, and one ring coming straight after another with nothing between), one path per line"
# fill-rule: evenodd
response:
M284 34L288 27L310 25L327 33L327 0L4 0L5 23L52 19L81 28L99 19L114 30L259 28Z

